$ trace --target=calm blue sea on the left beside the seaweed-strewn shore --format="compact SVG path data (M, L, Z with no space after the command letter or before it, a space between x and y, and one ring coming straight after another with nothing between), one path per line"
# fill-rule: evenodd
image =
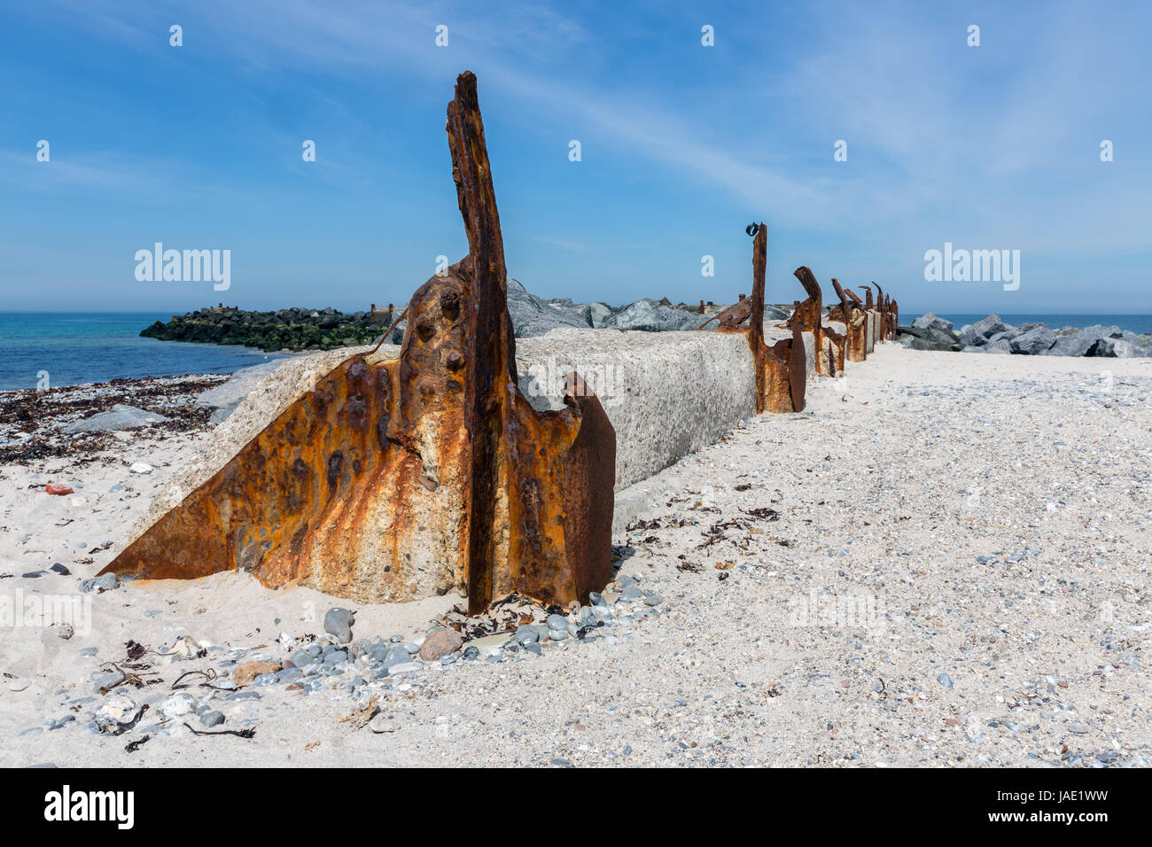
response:
M0 391L106 383L120 377L229 373L283 356L249 347L141 338L165 313L0 312Z

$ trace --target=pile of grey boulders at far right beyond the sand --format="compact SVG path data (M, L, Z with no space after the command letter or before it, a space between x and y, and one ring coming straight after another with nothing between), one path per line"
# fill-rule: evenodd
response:
M1106 356L1135 358L1152 356L1152 336L1137 335L1119 326L1066 326L1052 330L1031 323L1009 326L999 315L988 315L961 327L932 312L899 327L899 341L914 350L1014 354L1018 356Z

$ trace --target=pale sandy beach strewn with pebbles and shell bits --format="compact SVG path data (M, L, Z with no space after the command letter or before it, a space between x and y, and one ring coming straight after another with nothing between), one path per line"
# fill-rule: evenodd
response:
M1146 766L1150 399L1146 358L878 346L810 380L804 413L748 419L617 494L611 625L539 655L508 635L450 664L416 652L363 685L353 651L227 687L319 652L334 606L355 612L353 646L418 651L463 598L351 605L241 573L79 591L211 438L206 416L83 461L7 461L0 598L79 617L70 637L35 614L0 628L0 765ZM517 608L462 628L520 615L547 626ZM147 709L93 733L115 697Z

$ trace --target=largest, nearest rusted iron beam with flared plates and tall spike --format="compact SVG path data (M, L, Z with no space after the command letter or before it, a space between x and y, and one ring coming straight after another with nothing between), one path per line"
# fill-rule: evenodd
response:
M448 106L469 255L412 295L399 358L349 357L103 573L250 570L362 603L464 590L588 602L612 574L615 431L575 373L516 387L500 218L476 94Z

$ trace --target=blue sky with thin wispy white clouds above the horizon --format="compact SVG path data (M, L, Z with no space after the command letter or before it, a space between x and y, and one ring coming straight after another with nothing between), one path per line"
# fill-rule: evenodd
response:
M471 69L541 296L732 301L763 219L775 302L806 264L904 315L1149 312L1150 29L1136 2L9 5L0 310L404 302L467 252L444 126ZM137 281L156 241L230 250L230 289ZM945 242L1018 249L1020 288L925 281Z

